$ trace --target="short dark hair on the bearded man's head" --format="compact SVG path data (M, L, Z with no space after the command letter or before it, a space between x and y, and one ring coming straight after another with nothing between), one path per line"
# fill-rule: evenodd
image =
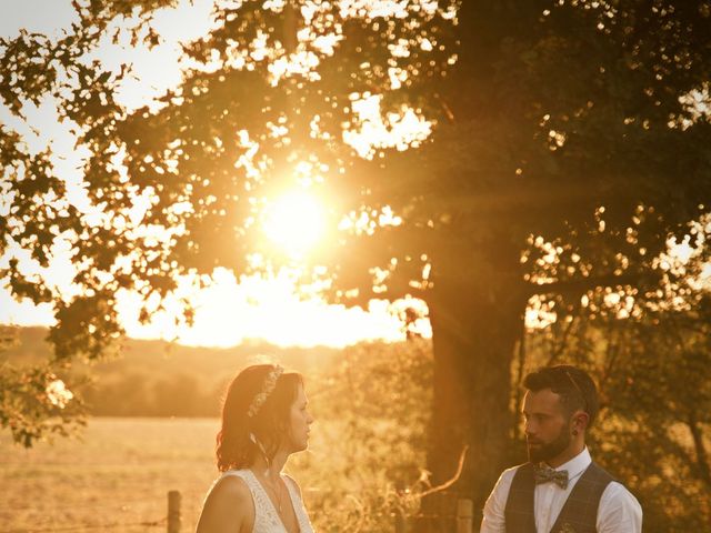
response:
M544 366L528 374L523 379L523 386L532 392L550 389L560 395L568 414L577 410L588 413L588 428L598 415L600 409L598 388L590 374L577 366L570 364Z

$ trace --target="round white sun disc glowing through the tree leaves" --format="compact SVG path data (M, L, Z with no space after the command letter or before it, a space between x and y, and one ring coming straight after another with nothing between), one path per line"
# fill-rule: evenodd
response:
M263 229L282 253L291 258L303 257L323 237L323 207L313 194L306 191L283 194L268 205Z

